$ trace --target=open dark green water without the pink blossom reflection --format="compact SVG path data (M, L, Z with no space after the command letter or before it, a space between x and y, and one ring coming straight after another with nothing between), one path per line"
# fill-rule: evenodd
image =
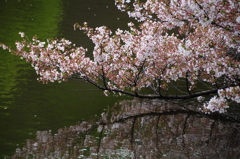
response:
M113 0L0 0L0 43L14 46L19 31L41 40L64 37L92 47L73 24L125 29L130 21ZM90 52L89 52L89 56ZM57 130L87 120L120 98L72 80L43 85L29 63L0 49L0 158L12 155L38 130ZM76 89L80 91L76 91Z

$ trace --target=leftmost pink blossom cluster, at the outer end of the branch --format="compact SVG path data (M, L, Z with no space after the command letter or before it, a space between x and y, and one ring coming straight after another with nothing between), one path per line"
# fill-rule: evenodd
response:
M24 33L19 34L24 38ZM84 76L82 72L89 69L90 65L94 65L88 57L85 57L86 49L75 47L66 39L49 39L42 42L33 37L31 42L26 38L15 44L14 53L30 62L36 73L40 75L38 80L44 83L65 81L73 74Z

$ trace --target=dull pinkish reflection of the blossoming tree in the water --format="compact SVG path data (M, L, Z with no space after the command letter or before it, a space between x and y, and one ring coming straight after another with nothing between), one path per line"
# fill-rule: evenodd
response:
M240 124L159 100L123 101L97 122L39 131L14 158L237 158Z

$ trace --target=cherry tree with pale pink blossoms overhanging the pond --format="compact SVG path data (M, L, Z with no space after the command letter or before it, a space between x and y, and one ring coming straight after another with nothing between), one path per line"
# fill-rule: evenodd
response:
M240 2L237 0L115 0L138 20L114 33L106 26L75 24L94 43L31 41L20 32L16 50L43 83L83 79L109 92L139 98L196 98L204 111L220 113L240 103Z

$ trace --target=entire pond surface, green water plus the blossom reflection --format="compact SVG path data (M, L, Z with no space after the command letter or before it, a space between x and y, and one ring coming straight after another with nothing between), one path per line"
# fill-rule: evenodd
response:
M116 30L132 21L114 0L1 0L0 12L0 43L10 46L23 31L91 48L74 23ZM0 49L0 158L15 152L15 158L40 159L240 156L236 120L160 100L105 97L79 80L44 85L36 79L30 64Z

